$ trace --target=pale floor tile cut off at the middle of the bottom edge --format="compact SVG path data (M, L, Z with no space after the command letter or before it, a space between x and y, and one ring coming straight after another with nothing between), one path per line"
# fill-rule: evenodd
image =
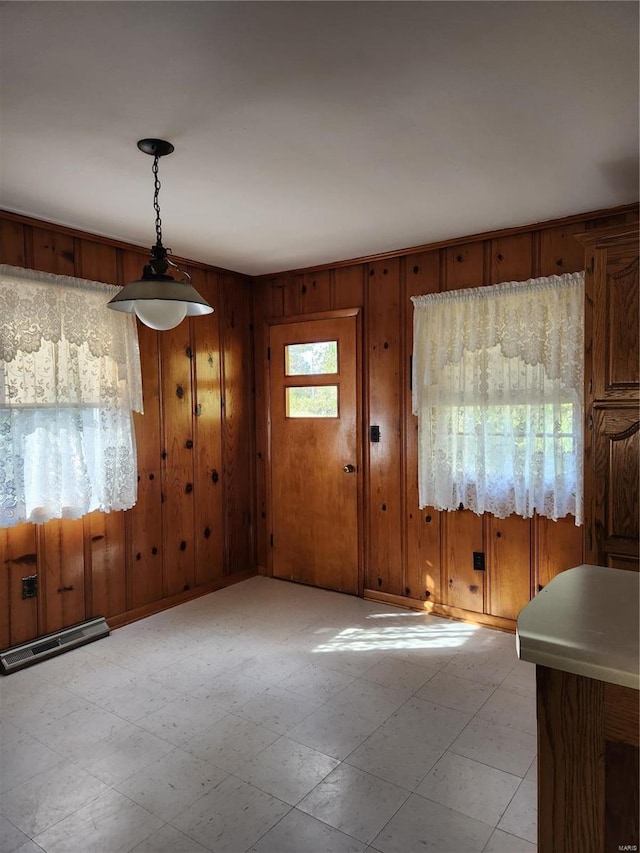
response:
M362 841L292 809L248 853L363 853L364 849Z

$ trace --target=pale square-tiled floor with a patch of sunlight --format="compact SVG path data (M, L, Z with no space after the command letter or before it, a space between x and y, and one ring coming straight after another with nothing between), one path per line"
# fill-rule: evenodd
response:
M252 578L0 677L0 851L535 851L533 670Z

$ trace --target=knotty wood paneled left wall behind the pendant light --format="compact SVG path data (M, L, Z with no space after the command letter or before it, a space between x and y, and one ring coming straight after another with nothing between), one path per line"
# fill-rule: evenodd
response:
M0 213L0 263L123 284L147 253ZM215 312L139 328L138 502L0 530L0 648L94 615L113 625L255 574L251 280L182 264ZM39 596L22 598L37 574Z

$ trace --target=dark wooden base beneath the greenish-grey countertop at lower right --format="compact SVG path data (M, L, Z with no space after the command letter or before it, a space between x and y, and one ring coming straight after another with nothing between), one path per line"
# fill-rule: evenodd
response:
M538 853L638 851L638 691L536 673Z

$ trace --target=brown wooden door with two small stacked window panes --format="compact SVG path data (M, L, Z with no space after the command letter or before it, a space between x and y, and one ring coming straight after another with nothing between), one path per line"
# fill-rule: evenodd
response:
M357 317L269 335L274 577L358 592Z

